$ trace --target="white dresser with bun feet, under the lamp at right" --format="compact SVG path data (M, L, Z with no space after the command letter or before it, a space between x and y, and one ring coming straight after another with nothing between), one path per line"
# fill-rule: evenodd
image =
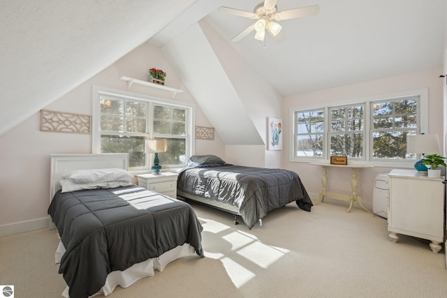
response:
M389 237L397 234L432 241L434 253L444 241L444 177L419 176L416 170L392 170L388 174L390 203L388 206Z

